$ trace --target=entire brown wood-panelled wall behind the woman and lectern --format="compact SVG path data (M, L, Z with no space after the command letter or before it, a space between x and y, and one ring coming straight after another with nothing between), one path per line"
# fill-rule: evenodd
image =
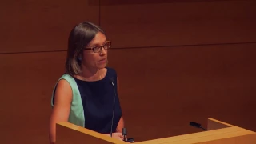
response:
M101 24L114 48L126 127L136 141L200 131L207 118L256 130L255 1L5 1L0 53L66 50L75 23ZM100 22L99 22L100 17ZM154 48L147 48L157 46ZM166 47L161 47L166 46ZM171 46L171 47L170 47ZM47 143L50 96L66 52L0 54L2 143Z

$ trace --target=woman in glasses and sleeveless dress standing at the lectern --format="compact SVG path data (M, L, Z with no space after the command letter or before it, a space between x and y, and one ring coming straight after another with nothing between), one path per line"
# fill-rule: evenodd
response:
M71 122L106 135L112 127L112 137L123 139L118 77L106 67L110 46L103 30L93 23L82 22L71 30L66 74L59 78L52 96L50 143L55 143L56 122Z

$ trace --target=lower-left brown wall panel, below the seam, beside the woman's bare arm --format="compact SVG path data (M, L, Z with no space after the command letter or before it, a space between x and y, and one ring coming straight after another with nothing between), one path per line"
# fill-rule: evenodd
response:
M50 95L65 56L0 54L1 143L49 143Z

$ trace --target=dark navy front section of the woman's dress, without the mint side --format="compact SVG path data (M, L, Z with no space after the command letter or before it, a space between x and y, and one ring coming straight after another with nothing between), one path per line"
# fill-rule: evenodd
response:
M118 122L122 117L118 98L117 74L112 68L106 67L106 69L106 76L102 80L87 82L74 78L82 98L85 127L102 134L109 134L111 130L114 97L113 132L116 131ZM114 82L114 86L110 79Z

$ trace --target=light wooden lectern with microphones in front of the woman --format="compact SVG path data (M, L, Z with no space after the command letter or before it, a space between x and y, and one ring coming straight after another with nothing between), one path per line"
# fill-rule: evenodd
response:
M136 144L256 144L256 133L213 118L208 119L207 131L184 134L169 138L134 142ZM110 144L127 142L110 138L92 130L75 126L69 122L59 122L56 126L56 144ZM135 139L136 141L136 139Z

